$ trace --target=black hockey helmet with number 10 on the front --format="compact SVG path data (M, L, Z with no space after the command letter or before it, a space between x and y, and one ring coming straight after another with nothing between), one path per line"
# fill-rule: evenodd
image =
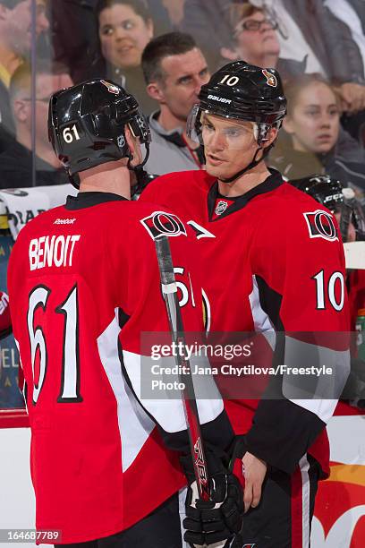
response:
M225 64L201 86L199 103L188 122L188 134L200 137L201 115L254 122L259 146L267 139L271 127L279 128L286 114L286 98L279 73L245 61Z

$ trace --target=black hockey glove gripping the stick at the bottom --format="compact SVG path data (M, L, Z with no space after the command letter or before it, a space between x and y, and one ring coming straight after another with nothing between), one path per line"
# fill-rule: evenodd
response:
M230 546L231 541L241 531L243 519L242 486L228 468L225 458L207 451L210 501L199 499L191 457L181 458L183 470L189 482L186 495L186 529L184 540L191 546L210 545ZM217 545L217 544L216 544Z

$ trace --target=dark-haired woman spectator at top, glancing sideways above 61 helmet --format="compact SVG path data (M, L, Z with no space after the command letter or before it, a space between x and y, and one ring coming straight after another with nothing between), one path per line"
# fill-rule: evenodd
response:
M149 114L156 103L146 93L140 60L153 36L151 13L142 0L99 0L97 15L104 76L130 91Z

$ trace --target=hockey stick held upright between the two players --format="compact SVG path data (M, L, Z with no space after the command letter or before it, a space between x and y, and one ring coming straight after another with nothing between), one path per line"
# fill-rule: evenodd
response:
M174 265L171 257L170 244L166 235L160 235L155 239L158 269L161 278L162 293L164 295L171 337L178 352L175 354L179 371L188 372L180 381L184 384L182 391L183 410L186 426L189 434L191 458L194 467L194 475L198 486L199 498L209 500L208 492L208 468L207 460L201 437L197 400L191 377L191 366L185 354L185 336L183 330L183 318L180 304L177 300L177 286L174 277ZM183 349L183 352L181 352ZM180 376L180 375L179 375Z

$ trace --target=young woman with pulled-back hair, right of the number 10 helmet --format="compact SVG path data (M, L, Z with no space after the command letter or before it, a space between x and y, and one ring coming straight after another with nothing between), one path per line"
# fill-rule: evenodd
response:
M352 186L364 205L365 163L339 148L340 108L331 85L319 74L304 74L285 86L288 113L284 135L268 164L288 179L325 174Z

